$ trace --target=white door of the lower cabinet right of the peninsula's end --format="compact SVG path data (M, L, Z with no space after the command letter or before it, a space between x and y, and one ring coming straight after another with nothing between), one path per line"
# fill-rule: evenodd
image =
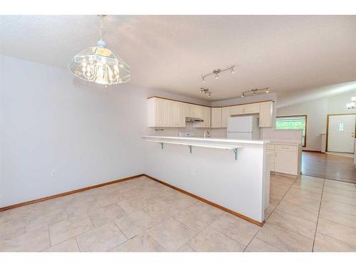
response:
M297 175L298 155L293 151L275 150L274 171Z

